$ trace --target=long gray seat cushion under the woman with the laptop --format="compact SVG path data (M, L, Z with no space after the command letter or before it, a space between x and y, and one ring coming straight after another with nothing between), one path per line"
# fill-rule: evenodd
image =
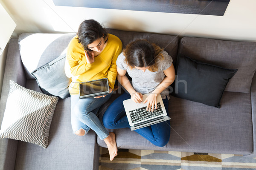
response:
M112 101L112 96L111 99ZM251 95L224 92L221 109L170 96L171 137L164 147L151 144L129 128L109 129L123 149L172 150L199 153L253 153ZM109 103L102 105L103 114ZM127 140L129 139L129 140ZM101 147L107 147L97 138Z

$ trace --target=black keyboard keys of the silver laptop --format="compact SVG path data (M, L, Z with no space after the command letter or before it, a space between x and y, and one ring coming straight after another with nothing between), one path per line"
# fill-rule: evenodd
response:
M149 119L155 116L163 115L163 110L160 105L160 102L157 103L157 109L154 108L154 111L146 111L147 107L135 109L133 111L129 111L130 116L131 116L131 122L136 123L140 122L145 119Z

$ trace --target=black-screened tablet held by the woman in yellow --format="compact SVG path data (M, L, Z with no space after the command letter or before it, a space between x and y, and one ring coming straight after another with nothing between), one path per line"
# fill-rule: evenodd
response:
M104 96L109 94L108 78L79 83L79 98Z

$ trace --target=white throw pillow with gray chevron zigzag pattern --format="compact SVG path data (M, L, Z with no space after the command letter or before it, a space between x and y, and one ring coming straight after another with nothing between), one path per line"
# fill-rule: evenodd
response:
M0 138L21 140L47 148L57 102L56 96L26 89L10 80Z

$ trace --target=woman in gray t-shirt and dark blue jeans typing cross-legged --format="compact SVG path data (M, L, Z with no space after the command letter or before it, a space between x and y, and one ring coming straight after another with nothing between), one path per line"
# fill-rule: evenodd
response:
M147 102L148 111L157 105L157 96L161 95L168 113L168 87L175 80L172 57L166 51L147 40L136 40L127 45L117 60L117 79L127 92L119 96L105 111L102 121L109 129L130 127L122 102L133 99L134 102ZM132 78L130 82L126 72ZM143 94L150 95L143 101ZM135 130L156 146L164 146L170 137L170 121L161 122Z

